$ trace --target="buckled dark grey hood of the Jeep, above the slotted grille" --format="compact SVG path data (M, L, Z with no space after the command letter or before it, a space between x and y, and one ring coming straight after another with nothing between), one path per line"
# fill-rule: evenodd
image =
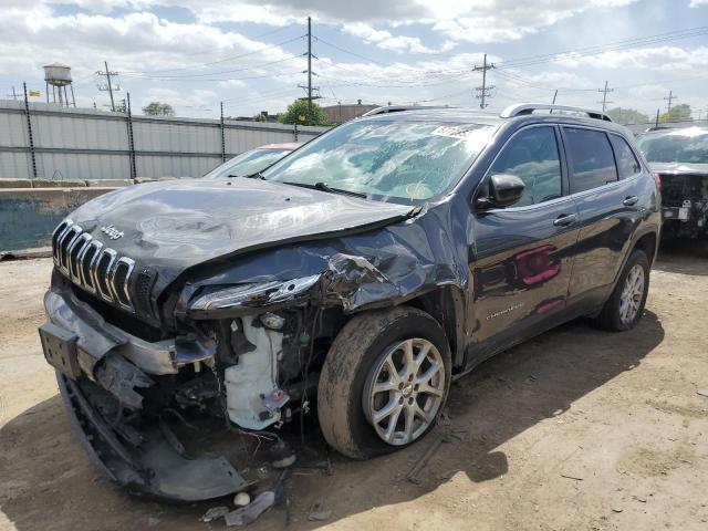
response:
M70 218L118 256L157 270L164 288L210 260L365 230L405 219L413 210L260 179L183 179L106 194Z

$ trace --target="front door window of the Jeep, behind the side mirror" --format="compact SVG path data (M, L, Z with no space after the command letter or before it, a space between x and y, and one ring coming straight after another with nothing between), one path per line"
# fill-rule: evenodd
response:
M561 197L561 160L554 128L530 127L514 135L489 173L511 174L523 180L525 189L514 207Z

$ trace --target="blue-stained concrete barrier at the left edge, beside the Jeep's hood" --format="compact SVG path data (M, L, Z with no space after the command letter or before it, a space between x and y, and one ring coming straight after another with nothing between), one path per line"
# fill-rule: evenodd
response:
M51 244L71 211L115 187L0 188L0 253Z

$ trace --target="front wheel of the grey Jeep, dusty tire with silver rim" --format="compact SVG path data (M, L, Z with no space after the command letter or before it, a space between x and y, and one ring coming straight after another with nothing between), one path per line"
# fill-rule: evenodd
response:
M337 334L317 388L320 427L341 454L367 459L437 423L451 379L445 332L410 306L356 315Z

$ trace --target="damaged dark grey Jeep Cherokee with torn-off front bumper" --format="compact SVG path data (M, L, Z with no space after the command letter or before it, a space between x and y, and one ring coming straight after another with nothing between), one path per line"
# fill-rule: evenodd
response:
M659 208L632 136L597 113L373 113L262 174L79 208L53 233L40 336L111 479L214 498L249 480L175 426L278 446L314 417L368 458L420 439L494 353L583 315L633 327Z

